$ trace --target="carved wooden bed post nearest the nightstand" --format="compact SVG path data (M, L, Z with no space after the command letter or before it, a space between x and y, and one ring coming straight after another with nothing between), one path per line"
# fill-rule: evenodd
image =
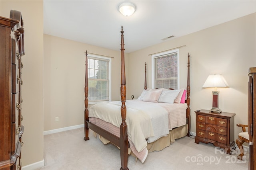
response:
M187 77L187 105L188 108L186 110L186 117L188 117L188 134L190 136L190 61L189 61L189 53L188 53L188 77Z

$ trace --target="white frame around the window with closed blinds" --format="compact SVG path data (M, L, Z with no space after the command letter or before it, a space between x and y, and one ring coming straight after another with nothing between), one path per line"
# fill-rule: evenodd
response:
M152 61L152 89L154 89L154 81L155 81L155 58L158 58L158 57L162 57L162 56L165 56L165 55L169 55L171 53L177 53L177 88L180 89L180 49L174 49L174 50L170 50L170 51L165 51L165 52L162 52L162 53L157 53L157 54L154 54L154 55L151 55L151 61Z

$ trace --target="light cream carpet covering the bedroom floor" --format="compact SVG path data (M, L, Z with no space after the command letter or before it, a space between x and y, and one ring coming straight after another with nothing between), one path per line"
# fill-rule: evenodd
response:
M119 170L120 150L112 144L104 145L89 131L84 141L84 129L74 129L44 136L45 166L40 170ZM176 139L169 147L150 152L145 162L128 157L130 170L246 170L248 152L240 161L236 149L229 155L211 143L199 145L192 137ZM202 159L200 159L202 158Z

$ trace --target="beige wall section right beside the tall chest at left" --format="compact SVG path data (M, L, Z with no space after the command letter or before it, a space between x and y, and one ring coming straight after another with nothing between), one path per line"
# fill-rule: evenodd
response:
M0 1L0 15L10 16L10 10L22 12L24 20L25 56L22 57L22 166L43 161L43 2Z

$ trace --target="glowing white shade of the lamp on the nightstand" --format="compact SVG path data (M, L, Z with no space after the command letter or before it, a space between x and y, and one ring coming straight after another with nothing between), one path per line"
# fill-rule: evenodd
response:
M221 74L209 75L204 82L203 88L228 87L228 83Z

